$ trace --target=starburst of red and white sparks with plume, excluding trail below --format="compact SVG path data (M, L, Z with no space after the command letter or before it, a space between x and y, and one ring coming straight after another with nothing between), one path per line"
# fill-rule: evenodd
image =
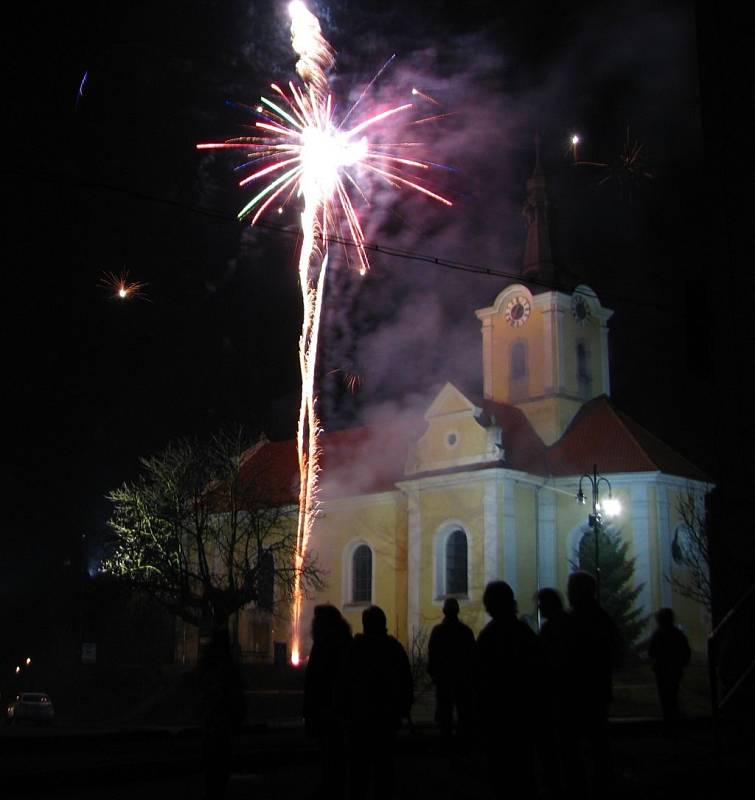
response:
M383 109L348 129L337 123L332 96L327 94L327 80L323 80L324 72L317 66L332 65L330 45L320 34L317 19L302 3L292 3L291 13L294 48L303 48L297 49L300 55L297 70L306 88L290 82L286 93L272 84L276 97L273 100L262 97L261 105L254 109L260 117L256 128L263 135L199 144L197 149L246 151L250 160L242 167L254 167L254 171L239 186L261 179L268 181L238 214L239 219L249 218L252 225L271 207L280 212L294 198L303 196L305 205L307 198L317 198L320 236L327 241L328 235L337 234L344 225L346 235L341 238L355 245L359 271L364 274L369 268L364 232L350 195L351 190L366 198L357 180L359 172L376 175L396 188L418 191L444 205L452 203L424 185L423 176L416 174L438 165L402 155L401 148L408 143L371 144L365 135L378 123L406 114L414 108L413 103ZM311 35L311 42L307 34ZM392 58L388 63L391 61ZM412 93L437 105L437 101L416 89ZM276 201L279 202L274 205Z

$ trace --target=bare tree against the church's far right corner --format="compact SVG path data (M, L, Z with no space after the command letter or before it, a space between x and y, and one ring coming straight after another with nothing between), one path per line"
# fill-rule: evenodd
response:
M705 502L692 487L687 487L679 497L677 511L682 524L671 542L671 556L687 574L672 573L667 579L682 597L700 603L711 613L711 551Z

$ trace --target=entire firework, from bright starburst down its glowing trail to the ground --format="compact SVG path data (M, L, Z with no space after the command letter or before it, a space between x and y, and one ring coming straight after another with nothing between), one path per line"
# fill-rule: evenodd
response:
M254 225L274 204L280 211L293 199L303 198L304 201L299 256L303 304L299 339L302 396L297 429L299 519L291 654L292 663L298 665L303 599L300 580L317 512L318 437L321 429L316 410L315 366L328 265L327 243L329 238L339 238L339 233L344 231L345 235L340 238L356 250L360 274L369 268L364 231L351 199L355 194L367 202L366 190L358 182L360 175L377 176L390 186L412 189L446 206L452 203L428 188L415 174L428 170L431 163L403 154L403 147L416 146L416 142L381 144L368 140L367 134L379 130L376 127L379 123L407 114L414 107L413 103L385 108L346 127L346 121L363 99L368 86L339 124L328 85L328 72L335 63L333 49L322 36L317 18L301 0L294 0L289 5L289 12L291 44L299 57L296 71L303 86L289 82L288 91L285 91L272 84L273 99L262 97L255 108L258 135L199 144L197 148L245 152L249 160L244 166L253 168L253 171L239 185L265 184L239 212L240 220L250 219ZM383 70L392 60L389 59Z

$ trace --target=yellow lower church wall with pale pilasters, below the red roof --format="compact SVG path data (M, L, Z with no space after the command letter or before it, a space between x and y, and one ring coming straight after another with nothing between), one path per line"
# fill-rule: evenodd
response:
M692 646L704 649L709 621L698 606L672 592L664 578L664 564L670 564L670 558L663 554L679 521L676 503L682 481L669 482L658 473L608 477L623 509L614 527L628 543L627 555L636 558L637 583L645 583L638 602L648 615L647 632L653 627L652 613L670 599ZM520 614L534 624L535 593L555 583L554 588L566 596L575 547L589 530L589 498L585 506L575 502L577 484L577 477L542 486L541 480L510 470L462 470L407 481L400 491L326 504L312 547L327 566L328 587L305 607L305 627L314 602L331 602L342 609L354 632L361 631L364 606L346 602L344 551L353 542L364 541L374 554L373 602L386 612L390 632L408 647L414 629L429 630L442 618L436 542L443 531L455 526L467 534L469 548L468 596L459 598L462 619L479 632L486 622L485 585L504 579L515 591ZM545 538L551 521L552 541ZM416 552L413 568L412 547ZM679 574L678 567L674 570ZM555 580L544 580L544 576ZM308 650L306 641L304 649Z

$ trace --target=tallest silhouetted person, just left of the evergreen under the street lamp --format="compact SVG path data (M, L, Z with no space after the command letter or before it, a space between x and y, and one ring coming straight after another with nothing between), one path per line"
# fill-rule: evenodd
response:
M574 626L574 712L571 729L589 746L593 793L600 796L613 784L613 758L608 711L613 699L613 669L618 651L618 631L597 601L597 583L589 572L573 572L567 583ZM584 769L584 762L577 767Z

